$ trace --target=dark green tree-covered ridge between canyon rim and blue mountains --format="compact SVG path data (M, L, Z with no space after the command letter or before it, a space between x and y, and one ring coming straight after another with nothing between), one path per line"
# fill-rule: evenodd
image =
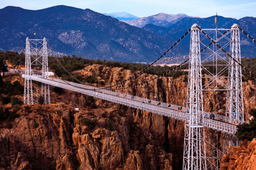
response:
M0 51L0 57L3 58L4 60L8 60L11 62L13 65L16 65L18 60L20 59L20 65L25 65L25 56L23 54L19 54L18 52L14 51ZM53 57L48 57L48 63L49 63L49 68L51 69L56 69L56 61L53 59ZM59 57L59 61L61 64L67 69L67 71L77 71L81 70L88 65L93 65L93 64L99 64L99 65L106 65L110 68L113 67L122 67L125 70L131 70L131 71L141 71L144 68L146 68L148 65L146 64L137 64L137 63L129 63L129 62L115 62L115 61L107 61L107 60L94 60L94 59L84 59L82 57L77 57L76 55L72 56L63 56ZM251 72L256 74L256 58L241 58L241 63L244 65L247 69L249 69ZM168 77L180 77L182 75L188 74L187 71L180 71L180 70L187 70L188 69L188 62L184 65L180 65L178 68L176 68L176 65L169 67L169 66L153 66L147 69L145 72L148 74L153 74L153 75L161 75L163 76L168 76ZM210 69L210 68L209 68ZM221 68L219 68L221 69ZM175 71L174 71L175 70ZM168 72L166 75L165 73ZM204 71L202 72L204 74ZM227 71L224 73L227 74ZM242 74L245 75L243 77L243 81L249 80L249 79L254 79L253 77L250 76L250 73L247 71L242 71ZM61 75L59 75L61 76Z

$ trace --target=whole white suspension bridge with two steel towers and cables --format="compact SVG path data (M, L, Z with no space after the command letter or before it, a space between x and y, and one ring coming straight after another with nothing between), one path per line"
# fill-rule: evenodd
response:
M145 73L149 67L153 67L189 32L189 58L180 64L189 62L186 107L133 96L125 92L127 89L147 85L150 81L155 81L161 77L162 75L159 75L140 84L128 85L132 79L136 82L136 78L140 74ZM245 34L253 42L256 42L236 24L229 29L201 29L194 24L171 48L142 71L122 82L105 88L96 88L76 79L61 65L57 55L49 47L46 38L43 40L30 40L27 38L24 47L26 48L25 73L22 74L25 79L23 102L24 104L38 103L38 96L43 96L44 103L50 104L49 85L52 85L185 121L183 170L218 170L221 157L227 153L228 147L239 144L239 141L234 136L237 131L236 125L246 122L244 120L241 81L242 68L256 77L241 64L240 33ZM36 45L36 48L34 45ZM47 45L49 48L47 48ZM68 75L73 77L74 82L49 76L47 59L49 53L55 56L56 63ZM31 65L41 65L41 74L34 74ZM170 71L164 74L168 74ZM204 74L202 74L202 71L204 71ZM227 83L223 81L224 79L227 80ZM35 82L40 82L40 85L38 86ZM211 113L204 111L204 91L227 91L225 116L215 114L214 120L209 119ZM215 135L208 138L205 130L213 130ZM221 139L224 140L221 141Z

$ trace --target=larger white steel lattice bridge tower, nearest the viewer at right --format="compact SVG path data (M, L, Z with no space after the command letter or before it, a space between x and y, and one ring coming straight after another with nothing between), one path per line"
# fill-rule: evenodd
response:
M235 136L224 134L221 137L221 133L204 127L204 119L209 119L209 115L207 117L204 113L203 91L213 91L215 95L227 91L228 119L224 121L237 125L244 122L241 66L228 57L224 49L241 63L239 27L236 24L230 29L201 29L196 24L191 27L183 170L218 170L226 147L238 145ZM223 79L227 79L227 84ZM220 139L229 142L226 144Z

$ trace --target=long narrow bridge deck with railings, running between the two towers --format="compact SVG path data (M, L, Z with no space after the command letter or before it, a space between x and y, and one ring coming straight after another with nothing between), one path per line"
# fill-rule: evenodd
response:
M25 75L22 74L22 77L25 78ZM127 105L127 106L137 108L137 109L140 109L143 111L149 111L152 113L157 113L157 114L160 114L163 116L168 116L168 117L172 117L172 118L183 120L183 121L186 120L185 108L183 107L180 112L180 111L178 111L178 108L180 106L177 106L177 105L171 105L171 107L168 107L170 105L168 103L158 102L155 100L146 99L146 98L142 98L142 97L138 97L138 96L133 96L133 99L132 99L131 98L132 96L128 95L128 94L121 94L121 93L108 91L108 90L97 91L97 88L92 87L92 86L81 85L81 84L74 83L74 82L66 82L61 79L43 78L40 75L32 75L29 77L29 79L35 80L37 82L42 82L42 83L46 83L49 85L53 85L56 87L64 88L67 90L76 91L81 94L94 96L94 97L104 99L104 100L107 100L110 102ZM87 89L95 89L96 91L87 90ZM151 103L148 103L149 100L151 101ZM209 114L208 114L208 116L209 116ZM236 130L237 130L236 125L231 125L229 123L225 123L226 122L225 120L229 120L228 117L215 114L215 118L216 118L216 120L204 118L204 126L212 128L212 129L220 130L220 131L223 131L226 133L231 133L231 134L236 133ZM219 122L218 120L221 118L225 122Z

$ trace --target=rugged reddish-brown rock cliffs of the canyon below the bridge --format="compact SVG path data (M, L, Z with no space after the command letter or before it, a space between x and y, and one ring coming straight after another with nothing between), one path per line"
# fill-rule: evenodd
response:
M91 84L95 87L114 85L136 73L103 65L89 65L73 72L81 77L95 76L98 82L105 82L105 85ZM122 87L140 84L155 76L140 74L136 81L133 79ZM120 92L135 92L151 100L156 96L158 101L183 106L187 94L185 77L160 77L134 90ZM20 77L4 80L14 82L16 79L23 84ZM17 111L19 117L11 122L11 126L8 121L0 122L0 170L182 169L183 121L102 99L91 99L72 91L64 90L58 94L52 90L53 87L50 88L52 104L21 105ZM250 108L255 107L256 85L249 80L243 82L243 89L244 112L248 113ZM205 93L205 107L214 113L223 109L224 114L225 95L225 92ZM22 99L22 95L16 96ZM11 105L0 102L0 107L11 108ZM245 115L246 120L249 117ZM236 160L237 164L241 164L241 155L253 158L255 140L240 147L244 147L245 151L230 147L229 153L223 156L222 170L233 170ZM232 157L238 150L236 154L239 156ZM251 168L253 165L248 164Z

